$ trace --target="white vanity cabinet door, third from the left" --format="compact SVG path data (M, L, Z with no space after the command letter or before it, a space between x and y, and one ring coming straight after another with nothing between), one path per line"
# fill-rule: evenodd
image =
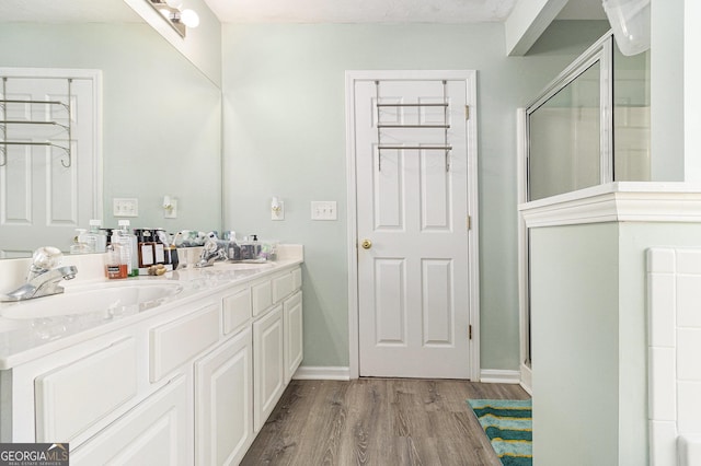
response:
M285 389L283 306L253 323L253 424L258 432Z

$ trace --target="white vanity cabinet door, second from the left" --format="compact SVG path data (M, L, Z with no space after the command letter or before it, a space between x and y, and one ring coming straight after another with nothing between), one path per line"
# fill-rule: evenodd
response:
M239 464L253 441L253 340L237 334L195 363L197 465Z

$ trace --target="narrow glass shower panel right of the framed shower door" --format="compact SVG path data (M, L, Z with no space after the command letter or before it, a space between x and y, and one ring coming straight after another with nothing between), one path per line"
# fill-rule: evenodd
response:
M613 179L650 182L650 50L613 47Z

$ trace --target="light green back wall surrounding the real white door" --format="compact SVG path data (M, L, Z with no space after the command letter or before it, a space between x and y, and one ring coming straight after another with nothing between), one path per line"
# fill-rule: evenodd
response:
M512 58L497 23L223 26L225 228L304 244L304 365L348 364L345 71L474 69L481 366L518 369L516 108L606 31L567 23ZM338 221L312 222L311 200Z

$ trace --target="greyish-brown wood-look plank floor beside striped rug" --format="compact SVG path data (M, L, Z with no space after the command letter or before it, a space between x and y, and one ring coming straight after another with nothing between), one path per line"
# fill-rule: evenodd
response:
M528 397L467 381L292 381L241 464L501 466L466 400Z

